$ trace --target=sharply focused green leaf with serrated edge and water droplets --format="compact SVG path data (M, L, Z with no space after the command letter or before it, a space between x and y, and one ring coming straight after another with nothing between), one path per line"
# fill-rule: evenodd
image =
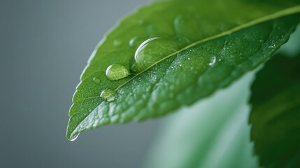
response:
M162 116L227 87L287 41L299 12L299 3L290 1L173 0L140 8L120 21L92 54L76 87L67 137L110 123ZM177 47L150 45L148 51L166 55L154 55L154 63L138 73L108 80L108 66L130 69L138 45L152 37ZM105 94L108 101L100 97L103 90L110 93Z

